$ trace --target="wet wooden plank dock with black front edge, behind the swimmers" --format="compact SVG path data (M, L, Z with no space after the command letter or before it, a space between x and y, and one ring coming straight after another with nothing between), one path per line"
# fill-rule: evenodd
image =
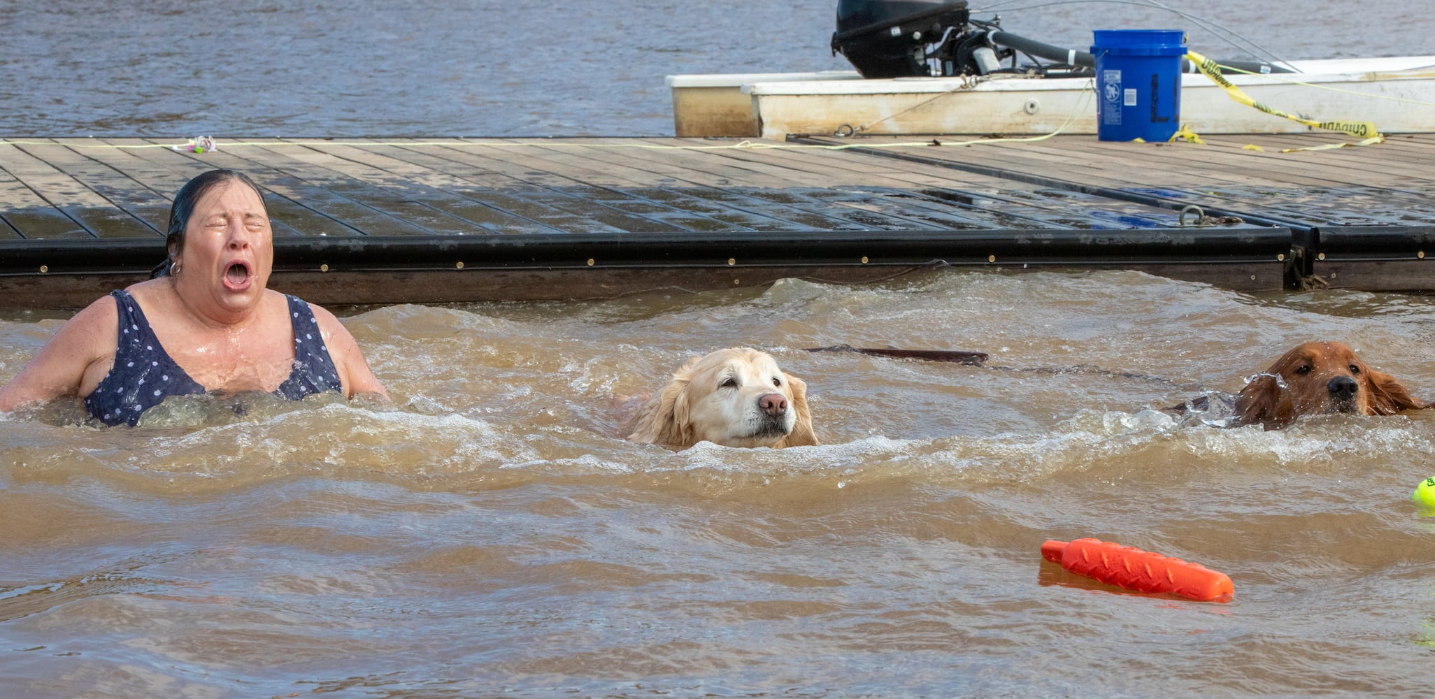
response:
M1280 152L1335 142L221 138L198 154L171 148L182 141L16 138L0 141L0 307L76 307L146 278L165 257L171 198L212 168L265 189L271 286L326 304L943 266L1435 288L1435 135Z

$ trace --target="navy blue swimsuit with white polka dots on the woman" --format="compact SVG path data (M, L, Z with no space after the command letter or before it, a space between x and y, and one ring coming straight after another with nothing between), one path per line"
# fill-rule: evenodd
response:
M119 349L115 366L85 398L89 415L106 425L133 425L139 416L159 405L166 396L204 393L205 388L189 377L149 329L145 313L128 291L115 290L119 307ZM309 304L294 296L288 299L290 324L294 329L294 370L274 395L298 400L310 393L342 390L339 372L319 334L319 320Z

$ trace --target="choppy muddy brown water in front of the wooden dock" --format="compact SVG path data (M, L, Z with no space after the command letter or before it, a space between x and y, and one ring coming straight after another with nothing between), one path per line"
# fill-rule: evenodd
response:
M1218 429L1151 411L1337 339L1435 398L1435 299L1141 273L583 304L339 309L397 408L0 416L7 696L1428 692L1435 412ZM60 323L0 322L0 380ZM805 347L989 352L963 366ZM673 452L614 398L762 347L821 446ZM1096 537L1225 604L1040 558Z

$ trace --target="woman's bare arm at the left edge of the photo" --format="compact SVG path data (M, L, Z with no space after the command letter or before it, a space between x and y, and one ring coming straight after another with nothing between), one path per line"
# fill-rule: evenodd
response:
M10 383L0 386L0 412L89 395L115 360L118 327L119 311L109 296L76 313Z

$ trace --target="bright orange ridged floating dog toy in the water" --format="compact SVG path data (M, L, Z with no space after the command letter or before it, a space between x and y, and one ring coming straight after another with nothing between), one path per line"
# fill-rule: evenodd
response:
M1171 593L1195 601L1230 601L1236 594L1225 573L1095 538L1048 541L1042 557L1078 576L1141 593Z

